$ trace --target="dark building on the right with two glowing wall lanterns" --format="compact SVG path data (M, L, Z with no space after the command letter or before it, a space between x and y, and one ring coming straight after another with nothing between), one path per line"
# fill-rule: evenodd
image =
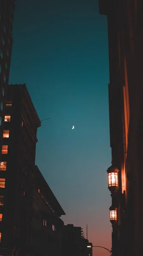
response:
M143 253L142 0L99 0L99 11L108 21L112 255L138 256Z

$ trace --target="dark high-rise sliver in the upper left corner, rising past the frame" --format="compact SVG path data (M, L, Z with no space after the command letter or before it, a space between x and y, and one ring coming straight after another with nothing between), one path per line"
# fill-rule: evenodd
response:
M12 52L15 0L0 0L0 149Z

